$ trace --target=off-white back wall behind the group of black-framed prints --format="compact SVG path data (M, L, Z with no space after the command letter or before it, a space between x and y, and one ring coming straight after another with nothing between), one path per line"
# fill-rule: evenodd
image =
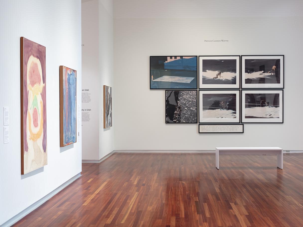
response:
M302 24L302 17L114 19L115 150L303 150ZM209 39L229 42L204 42ZM149 56L245 54L285 54L285 123L245 124L244 134L198 134L198 124L165 124L165 91L149 89Z

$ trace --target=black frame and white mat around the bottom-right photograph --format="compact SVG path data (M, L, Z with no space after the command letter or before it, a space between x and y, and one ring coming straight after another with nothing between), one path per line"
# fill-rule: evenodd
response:
M245 118L245 94L279 94L279 118ZM241 99L241 122L242 123L283 123L284 122L284 91L283 89L259 89L259 90L242 90ZM269 105L270 106L270 105ZM272 105L271 105L272 106ZM282 114L282 117L280 117ZM248 120L251 119L251 120ZM277 120L278 119L278 120Z

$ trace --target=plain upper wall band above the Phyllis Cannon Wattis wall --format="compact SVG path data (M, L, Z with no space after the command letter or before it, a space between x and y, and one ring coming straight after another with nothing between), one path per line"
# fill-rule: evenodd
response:
M114 0L114 18L291 17L302 8L302 0Z

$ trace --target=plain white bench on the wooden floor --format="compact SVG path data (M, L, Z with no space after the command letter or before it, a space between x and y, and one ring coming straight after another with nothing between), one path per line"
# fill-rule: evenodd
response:
M280 147L216 147L216 168L219 169L219 154L270 154L277 155L277 166L283 169L283 149Z

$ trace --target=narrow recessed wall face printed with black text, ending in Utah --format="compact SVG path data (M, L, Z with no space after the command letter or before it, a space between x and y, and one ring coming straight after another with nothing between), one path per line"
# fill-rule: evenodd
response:
M91 120L82 122L82 160L99 160L99 28L98 0L83 2L82 6L82 89L91 94L90 103L82 103ZM82 111L88 112L88 111Z

